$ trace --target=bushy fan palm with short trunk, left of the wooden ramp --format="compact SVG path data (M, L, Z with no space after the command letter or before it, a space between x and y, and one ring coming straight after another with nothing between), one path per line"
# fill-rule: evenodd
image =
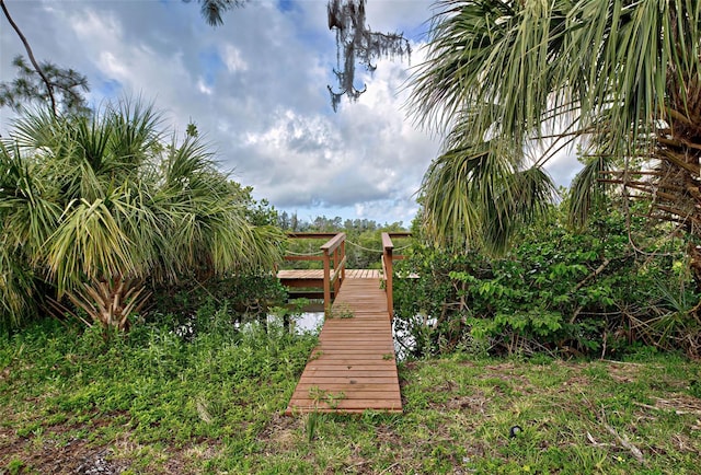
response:
M240 187L197 138L164 144L160 125L128 102L15 124L0 153L3 314L16 323L45 282L55 305L67 296L125 329L146 281L273 267L281 235L246 221Z

